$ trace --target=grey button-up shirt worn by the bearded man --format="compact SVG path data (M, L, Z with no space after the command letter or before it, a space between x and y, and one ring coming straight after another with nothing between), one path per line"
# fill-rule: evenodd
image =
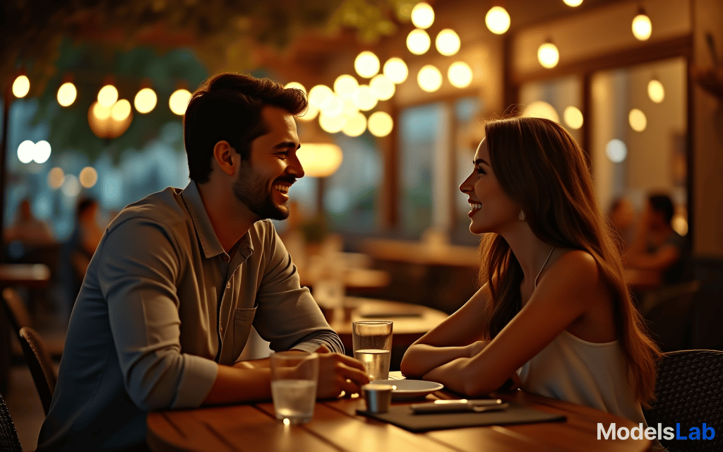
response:
M75 302L38 451L143 443L146 412L200 406L252 325L276 351L343 353L270 221L235 246L229 258L194 182L119 213Z

